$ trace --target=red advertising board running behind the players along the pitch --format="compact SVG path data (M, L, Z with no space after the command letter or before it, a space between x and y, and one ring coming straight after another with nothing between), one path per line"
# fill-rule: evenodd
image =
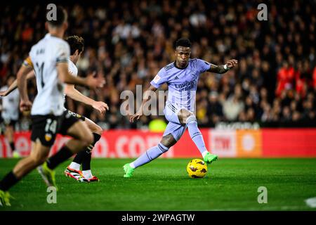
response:
M221 158L316 157L316 129L217 130L201 129L205 146ZM31 150L30 132L15 133L15 146L22 156ZM136 158L157 145L162 133L139 130L109 130L93 149L94 158ZM58 136L51 154L67 141ZM10 158L11 149L0 136L0 158ZM187 131L163 158L201 158Z

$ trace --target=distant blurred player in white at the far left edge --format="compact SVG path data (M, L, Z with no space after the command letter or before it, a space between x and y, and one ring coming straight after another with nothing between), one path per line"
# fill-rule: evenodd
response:
M7 79L6 86L1 87L1 93L8 89L8 86L14 82L14 77L10 76ZM11 93L10 96L6 98L0 98L2 100L1 117L6 125L6 129L4 131L4 136L8 140L10 144L13 158L19 158L20 154L15 150L14 145L14 131L15 131L15 123L18 122L19 119L19 103L20 103L20 94L18 90L15 90Z

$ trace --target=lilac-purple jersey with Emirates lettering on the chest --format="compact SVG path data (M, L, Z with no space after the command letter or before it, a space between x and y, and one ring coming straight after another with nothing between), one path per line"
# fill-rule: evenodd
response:
M195 96L199 75L211 68L211 64L201 59L190 59L186 68L177 68L176 63L170 63L159 70L150 84L159 88L164 83L168 84L168 99L177 108L195 110Z

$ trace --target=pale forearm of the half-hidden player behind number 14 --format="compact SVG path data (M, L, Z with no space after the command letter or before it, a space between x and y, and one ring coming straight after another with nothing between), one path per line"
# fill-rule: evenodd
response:
M74 99L74 101L79 101L81 103L85 103L86 105L91 105L101 114L105 114L105 111L109 110L109 106L107 105L107 103L103 103L102 101L94 101L92 98L84 96L80 93L80 91L75 89L74 85L72 84L67 84L65 86L65 94Z

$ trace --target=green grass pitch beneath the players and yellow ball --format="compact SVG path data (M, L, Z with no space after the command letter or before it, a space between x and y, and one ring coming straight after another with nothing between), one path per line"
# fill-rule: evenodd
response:
M305 199L316 197L316 158L227 159L209 166L203 179L187 176L190 159L158 159L123 178L131 160L93 159L98 183L78 183L56 169L57 203L48 204L46 185L34 170L11 188L12 207L0 210L316 210ZM0 179L17 160L0 160ZM258 188L268 203L258 203Z

